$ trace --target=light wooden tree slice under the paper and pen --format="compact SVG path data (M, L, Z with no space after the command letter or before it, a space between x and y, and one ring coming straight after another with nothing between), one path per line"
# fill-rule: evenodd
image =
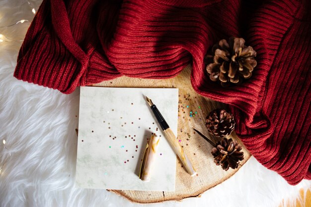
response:
M244 160L240 162L239 168L235 170L230 168L228 171L224 171L221 166L215 165L211 154L212 146L195 133L192 128L199 130L213 140L214 138L208 134L205 127L206 116L216 108L227 107L223 103L197 94L191 86L190 73L191 67L188 66L176 77L169 79L142 79L122 76L93 85L102 87L179 88L177 137L181 139L183 149L197 170L197 175L191 177L177 158L174 192L111 190L112 192L136 203L179 201L184 198L197 197L206 190L230 178L251 156L235 133L232 133L231 137L237 139L243 146Z

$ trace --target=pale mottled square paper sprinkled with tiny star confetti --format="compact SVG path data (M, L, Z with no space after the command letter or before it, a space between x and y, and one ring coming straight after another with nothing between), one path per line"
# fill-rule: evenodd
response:
M145 96L177 135L178 89L80 88L77 187L174 191L176 154ZM151 180L143 182L138 175L152 133L161 138Z

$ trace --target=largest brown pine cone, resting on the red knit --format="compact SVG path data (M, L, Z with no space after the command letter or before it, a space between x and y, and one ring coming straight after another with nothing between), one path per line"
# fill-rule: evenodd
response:
M220 80L226 87L232 83L240 83L243 78L250 78L257 62L256 52L252 47L244 45L243 38L231 37L229 43L223 39L213 46L213 62L206 67L213 81Z

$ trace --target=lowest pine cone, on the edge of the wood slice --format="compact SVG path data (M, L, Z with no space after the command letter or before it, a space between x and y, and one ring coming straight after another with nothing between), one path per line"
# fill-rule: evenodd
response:
M232 138L223 138L212 149L214 162L216 165L222 165L222 168L226 171L229 167L235 169L239 164L239 160L244 159L244 153L241 149L242 146L236 140L233 141Z

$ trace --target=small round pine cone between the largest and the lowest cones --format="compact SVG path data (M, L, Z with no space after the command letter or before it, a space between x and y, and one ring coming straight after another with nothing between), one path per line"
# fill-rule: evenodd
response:
M206 117L205 125L212 135L224 137L234 130L235 122L231 113L224 109L216 109Z

